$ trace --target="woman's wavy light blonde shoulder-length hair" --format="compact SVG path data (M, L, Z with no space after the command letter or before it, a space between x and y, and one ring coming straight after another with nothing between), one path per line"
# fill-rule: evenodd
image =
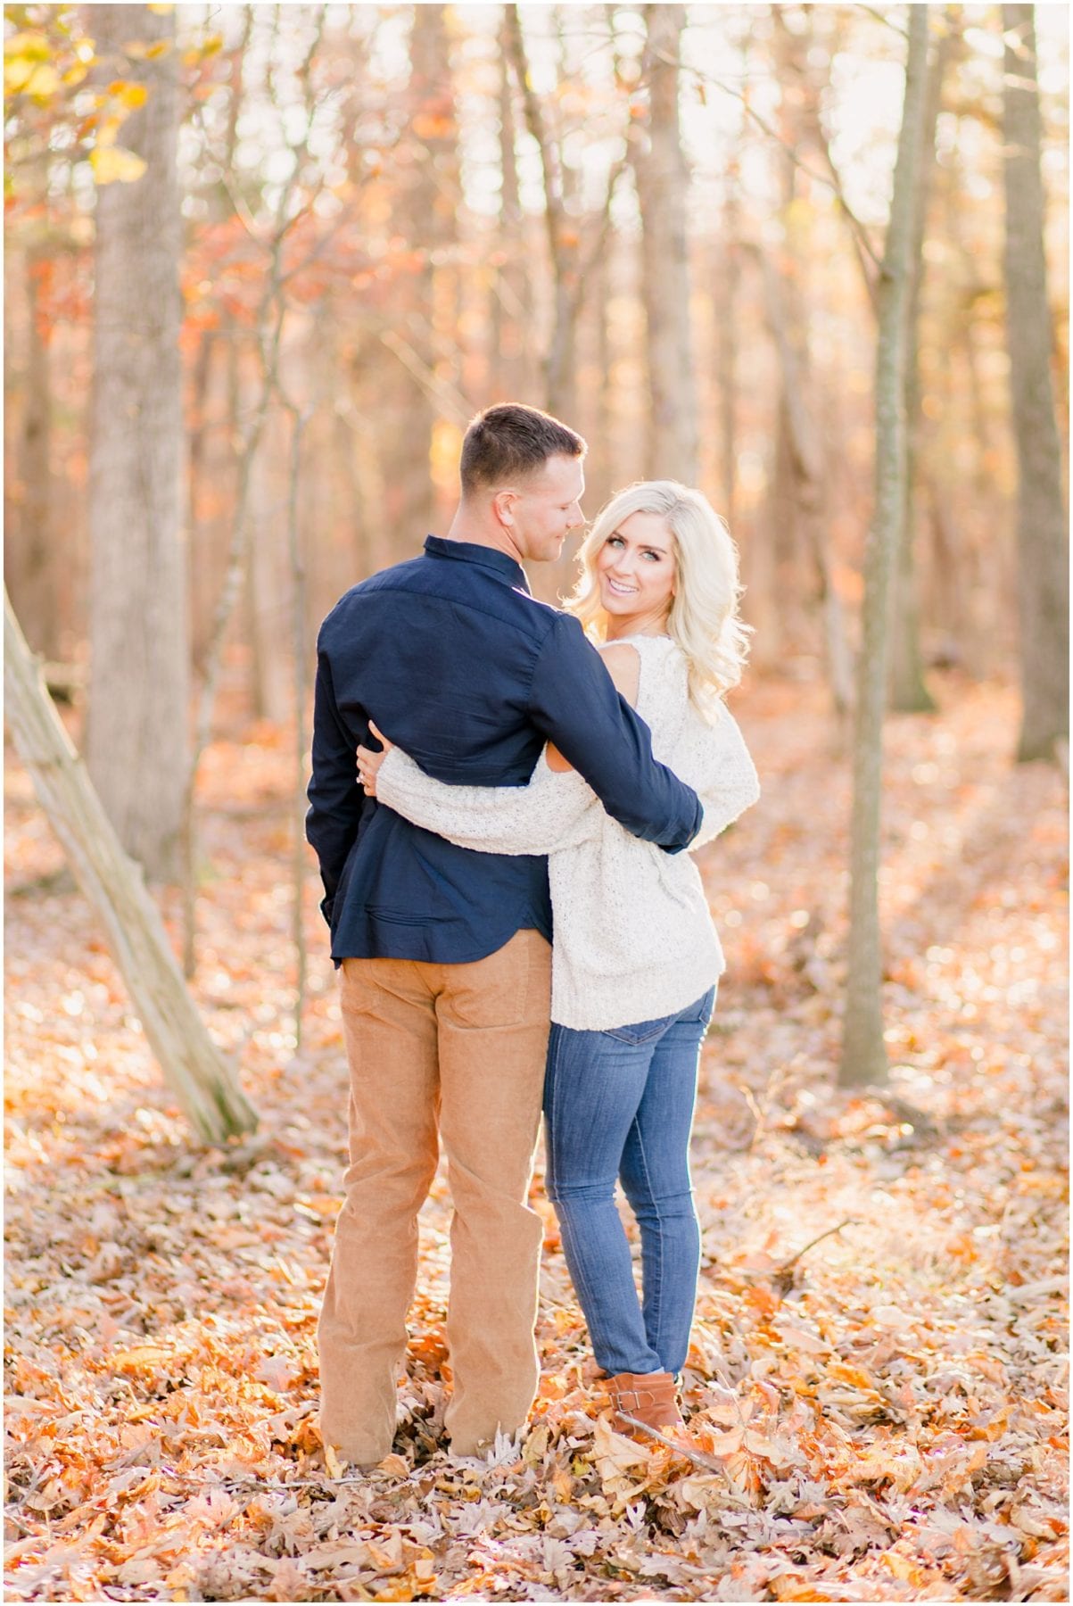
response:
M638 480L601 507L578 551L581 575L565 607L594 641L607 638L607 615L599 601L596 554L623 519L649 512L663 519L673 538L675 596L667 633L689 665L689 694L702 713L715 715L715 700L737 686L745 668L752 628L737 613L742 586L737 548L726 520L707 496L678 480Z

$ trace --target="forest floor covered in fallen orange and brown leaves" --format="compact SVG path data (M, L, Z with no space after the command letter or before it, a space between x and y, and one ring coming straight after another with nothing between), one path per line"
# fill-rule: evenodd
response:
M535 1431L450 1458L440 1177L395 1453L329 1474L345 1066L312 867L294 1054L289 737L236 726L204 768L194 993L262 1116L226 1148L161 1086L10 758L6 1598L1068 1600L1065 785L1010 763L1009 689L940 691L888 724L890 1099L834 1089L850 782L822 694L737 705L765 793L702 856L729 972L694 1147L696 1463L596 1418L538 1185Z

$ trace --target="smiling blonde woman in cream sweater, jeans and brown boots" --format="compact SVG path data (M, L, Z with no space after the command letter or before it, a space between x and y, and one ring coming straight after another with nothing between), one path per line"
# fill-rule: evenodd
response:
M651 480L612 498L578 556L569 607L647 721L655 756L697 792L697 848L758 797L721 700L745 657L734 543L700 491ZM700 1262L689 1131L724 968L697 867L630 835L554 747L525 787L456 787L381 740L382 753L358 748L381 803L466 848L548 854L548 1195L614 1426L681 1428L675 1389ZM641 1230L643 1302L617 1179Z

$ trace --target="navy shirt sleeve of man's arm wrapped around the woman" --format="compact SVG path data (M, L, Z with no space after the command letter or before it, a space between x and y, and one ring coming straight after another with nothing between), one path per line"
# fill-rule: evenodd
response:
M559 613L533 670L528 713L607 813L634 837L679 853L697 834L700 801L652 756L652 732L618 695L569 613Z

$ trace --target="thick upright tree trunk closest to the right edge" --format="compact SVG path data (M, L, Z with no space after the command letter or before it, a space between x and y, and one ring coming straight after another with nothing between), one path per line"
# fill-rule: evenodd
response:
M1004 5L1006 321L1017 435L1020 761L1070 736L1070 549L1051 385L1033 6Z

